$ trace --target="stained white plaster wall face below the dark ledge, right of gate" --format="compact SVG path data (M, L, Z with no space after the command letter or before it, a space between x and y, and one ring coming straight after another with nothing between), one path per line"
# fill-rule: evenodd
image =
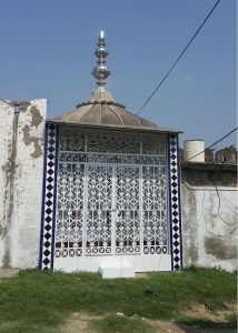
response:
M217 190L181 184L185 266L237 269L237 188Z

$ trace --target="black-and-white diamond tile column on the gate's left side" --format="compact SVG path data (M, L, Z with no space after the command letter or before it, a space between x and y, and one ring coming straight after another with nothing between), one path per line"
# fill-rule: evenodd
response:
M58 129L48 123L46 128L42 215L40 236L40 269L53 268L53 239L56 220L57 190L57 149Z

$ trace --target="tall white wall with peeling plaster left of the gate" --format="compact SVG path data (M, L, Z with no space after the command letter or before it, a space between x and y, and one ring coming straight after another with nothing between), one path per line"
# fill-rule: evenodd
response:
M19 112L14 112L19 104ZM47 100L0 100L0 266L39 258Z

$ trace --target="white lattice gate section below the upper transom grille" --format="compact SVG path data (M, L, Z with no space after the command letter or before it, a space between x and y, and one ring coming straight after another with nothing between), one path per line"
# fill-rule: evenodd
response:
M166 188L155 165L60 163L56 256L168 253Z

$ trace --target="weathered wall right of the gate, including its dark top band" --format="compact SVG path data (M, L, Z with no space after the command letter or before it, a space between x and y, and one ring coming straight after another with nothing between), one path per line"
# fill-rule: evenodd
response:
M236 165L190 163L181 179L184 265L236 270Z

